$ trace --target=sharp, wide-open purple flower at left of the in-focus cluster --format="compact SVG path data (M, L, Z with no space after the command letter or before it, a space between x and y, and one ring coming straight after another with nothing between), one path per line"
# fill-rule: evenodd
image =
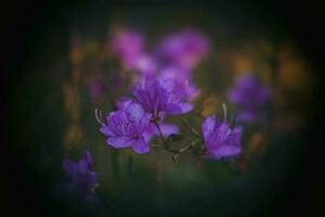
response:
M142 105L125 101L121 108L107 116L107 125L101 132L108 136L107 143L116 149L131 146L134 152L144 154L150 151L151 136L146 133L151 114L145 113Z

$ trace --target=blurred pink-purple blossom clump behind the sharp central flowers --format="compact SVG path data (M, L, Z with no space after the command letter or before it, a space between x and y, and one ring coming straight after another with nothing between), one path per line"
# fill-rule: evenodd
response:
M112 48L126 69L135 71L132 74L135 84L143 79L170 79L179 89L186 89L188 99L197 97L191 74L209 52L209 42L200 33L174 33L146 52L145 37L136 30L125 29L113 35Z

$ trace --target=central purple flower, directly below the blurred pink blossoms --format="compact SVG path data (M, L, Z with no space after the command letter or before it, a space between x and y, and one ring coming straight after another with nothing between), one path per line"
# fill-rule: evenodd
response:
M185 92L174 90L172 80L153 79L139 82L133 94L144 111L153 115L152 120L157 122L164 114L183 114L193 108L192 104L186 103Z

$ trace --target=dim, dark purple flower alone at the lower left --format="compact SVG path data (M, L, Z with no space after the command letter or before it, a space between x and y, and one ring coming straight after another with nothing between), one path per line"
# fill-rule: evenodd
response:
M66 158L63 162L65 173L70 177L70 187L74 190L90 191L96 184L96 174L92 171L92 157L89 151L78 162Z

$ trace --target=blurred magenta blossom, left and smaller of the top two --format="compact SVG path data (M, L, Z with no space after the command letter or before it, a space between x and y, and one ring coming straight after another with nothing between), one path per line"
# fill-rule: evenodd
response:
M112 46L123 66L131 69L142 55L144 37L132 29L121 30L113 35Z

